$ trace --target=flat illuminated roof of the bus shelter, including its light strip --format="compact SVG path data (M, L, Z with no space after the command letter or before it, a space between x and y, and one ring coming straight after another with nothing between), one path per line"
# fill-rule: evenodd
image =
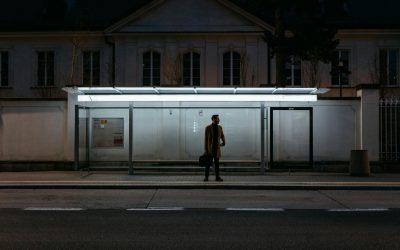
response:
M196 88L196 87L69 87L65 91L78 95L79 102L262 102L317 101L317 88Z

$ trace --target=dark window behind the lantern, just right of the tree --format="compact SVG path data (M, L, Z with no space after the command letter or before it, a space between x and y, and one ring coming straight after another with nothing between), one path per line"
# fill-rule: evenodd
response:
M342 86L349 85L349 58L350 52L348 50L338 50L335 52L335 59L332 61L332 85Z

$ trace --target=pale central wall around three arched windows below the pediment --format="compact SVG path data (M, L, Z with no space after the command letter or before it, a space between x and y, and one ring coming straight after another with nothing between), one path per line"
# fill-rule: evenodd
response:
M222 86L222 55L229 50L246 55L247 80L242 86L267 84L267 44L260 35L141 35L116 39L116 85L142 86L143 53L161 54L161 85L175 85L167 80L166 65L178 54L200 54L201 86Z

